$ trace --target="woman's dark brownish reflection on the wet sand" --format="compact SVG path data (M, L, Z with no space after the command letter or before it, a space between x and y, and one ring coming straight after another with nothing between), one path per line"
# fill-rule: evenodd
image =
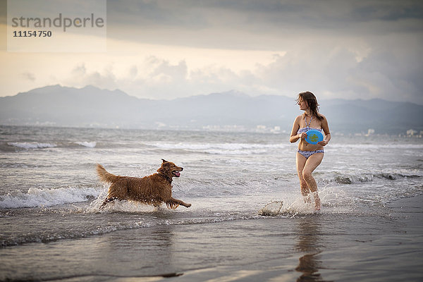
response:
M306 253L300 257L300 263L295 268L296 271L302 273L297 278L298 282L324 281L319 274L319 269L321 269L319 227L319 219L314 216L302 219L298 223L299 235L296 248L298 251Z

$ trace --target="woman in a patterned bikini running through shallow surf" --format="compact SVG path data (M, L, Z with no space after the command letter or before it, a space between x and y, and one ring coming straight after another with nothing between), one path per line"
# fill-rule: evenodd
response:
M297 99L300 110L304 114L297 116L294 121L293 130L290 135L290 142L295 143L300 140L297 151L297 171L300 178L301 194L305 202L311 202L309 193L314 196L314 209L320 210L320 198L317 192L317 183L312 176L314 169L319 166L324 156L323 147L331 140L328 120L322 114L319 114L319 104L312 92L302 92L298 94ZM308 130L319 130L324 133L324 140L316 145L307 143Z

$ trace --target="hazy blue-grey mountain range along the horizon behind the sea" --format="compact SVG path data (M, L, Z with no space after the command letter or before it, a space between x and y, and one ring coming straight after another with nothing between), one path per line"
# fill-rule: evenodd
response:
M331 132L379 134L423 130L423 106L383 99L319 101ZM52 85L0 97L0 124L180 130L290 132L301 114L293 98L237 91L172 100L138 99L121 90Z

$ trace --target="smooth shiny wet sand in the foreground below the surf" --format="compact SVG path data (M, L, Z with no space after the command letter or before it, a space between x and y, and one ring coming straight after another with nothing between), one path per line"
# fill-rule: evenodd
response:
M155 226L1 250L4 281L422 281L423 196L386 214Z

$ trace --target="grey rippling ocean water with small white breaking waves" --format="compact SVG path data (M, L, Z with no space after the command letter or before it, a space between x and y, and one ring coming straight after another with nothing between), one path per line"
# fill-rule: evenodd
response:
M272 201L282 201L283 207L271 218L287 224L314 218L312 205L300 195L297 144L288 139L283 133L1 126L0 280L76 275L65 267L68 262L60 262L60 255L61 271L33 264L51 257L32 256L25 251L29 246L38 250L59 243L78 250L81 240L117 234L130 245L130 232L145 235L169 226L197 233L226 223L243 228L269 220L259 210ZM114 174L143 177L156 172L161 159L183 166L181 177L173 178L173 197L192 207L154 209L116 201L99 210L107 186L97 180L97 163ZM423 195L423 140L333 135L314 178L322 203L319 225L351 218L369 221L369 226L374 219L388 222L389 203ZM328 227L325 232L340 231ZM65 251L67 259L78 257L75 250ZM292 250L281 252L289 255ZM40 254L48 252L38 250ZM214 265L200 258L197 263ZM130 273L149 276L160 271L140 267Z

